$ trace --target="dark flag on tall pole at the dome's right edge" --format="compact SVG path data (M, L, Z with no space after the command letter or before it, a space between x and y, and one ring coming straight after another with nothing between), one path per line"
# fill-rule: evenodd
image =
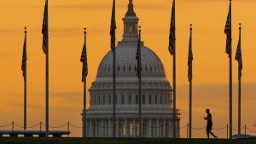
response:
M169 52L173 55L174 52L174 41L175 41L175 3L172 3L172 18L169 33Z

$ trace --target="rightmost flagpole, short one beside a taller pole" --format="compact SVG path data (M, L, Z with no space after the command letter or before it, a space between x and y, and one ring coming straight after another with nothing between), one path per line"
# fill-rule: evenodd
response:
M241 44L241 23L239 23L239 40ZM240 45L240 58L241 59L241 45ZM238 61L238 135L241 135L241 61Z

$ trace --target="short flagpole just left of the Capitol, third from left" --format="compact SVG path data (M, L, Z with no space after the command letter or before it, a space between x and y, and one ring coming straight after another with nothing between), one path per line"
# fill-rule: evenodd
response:
M86 28L84 27L84 48L86 48ZM86 50L86 49L84 49ZM84 51L85 53L85 51ZM85 63L85 56L84 55L84 62ZM84 72L84 66L83 66L83 72ZM84 106L83 106L83 137L86 137L86 74L84 74Z

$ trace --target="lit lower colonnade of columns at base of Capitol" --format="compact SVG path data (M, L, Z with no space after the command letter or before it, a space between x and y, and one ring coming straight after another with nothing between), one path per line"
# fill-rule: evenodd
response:
M170 118L143 118L143 137L170 138L174 122ZM179 120L176 121L179 128ZM138 137L139 124L137 118L117 118L115 137ZM97 118L87 120L87 137L112 137L112 118ZM179 129L176 130L179 136Z

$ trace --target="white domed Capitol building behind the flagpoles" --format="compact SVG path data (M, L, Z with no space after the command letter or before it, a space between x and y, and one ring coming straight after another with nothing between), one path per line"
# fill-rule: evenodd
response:
M132 0L123 18L124 33L116 47L116 137L139 136L137 78L138 18ZM172 87L164 66L154 51L141 43L142 56L142 135L179 137L180 112L173 115ZM113 53L106 54L90 86L90 107L86 112L87 137L112 137L113 132ZM173 130L173 125L176 130Z

